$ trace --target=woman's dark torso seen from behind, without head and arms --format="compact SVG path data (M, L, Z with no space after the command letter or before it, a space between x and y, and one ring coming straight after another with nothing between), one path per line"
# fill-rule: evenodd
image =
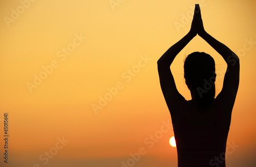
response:
M203 114L193 100L183 101L174 125L179 166L215 164L215 158L225 154L228 118L218 99ZM225 159L218 163L225 166Z

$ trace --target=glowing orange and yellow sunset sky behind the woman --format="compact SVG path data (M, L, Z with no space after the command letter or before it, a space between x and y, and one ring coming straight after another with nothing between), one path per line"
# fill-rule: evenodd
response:
M168 143L173 129L164 126L170 115L157 60L189 31L198 3L205 30L240 57L240 86L227 141L237 147L226 164L254 166L253 0L1 1L0 153L8 113L9 163L1 158L0 165L122 167L122 161L132 163L132 155L140 151L143 155L133 166L177 166L176 148ZM221 55L195 37L171 66L187 100L183 60L194 51L215 59L217 94L226 68ZM63 138L66 143L61 144ZM54 155L47 158L46 152Z

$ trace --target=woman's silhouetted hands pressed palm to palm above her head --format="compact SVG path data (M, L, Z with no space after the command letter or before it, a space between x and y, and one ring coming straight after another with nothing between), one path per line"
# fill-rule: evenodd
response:
M201 17L201 10L199 7L199 4L196 4L194 17L191 24L191 29L189 31L189 34L191 34L193 37L195 37L197 34L202 37L205 33L203 20Z

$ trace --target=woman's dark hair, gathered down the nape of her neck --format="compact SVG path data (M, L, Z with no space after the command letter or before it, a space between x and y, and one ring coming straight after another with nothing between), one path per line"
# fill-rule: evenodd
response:
M199 111L204 113L215 98L215 61L205 52L193 52L184 62L184 78L190 91L195 92Z

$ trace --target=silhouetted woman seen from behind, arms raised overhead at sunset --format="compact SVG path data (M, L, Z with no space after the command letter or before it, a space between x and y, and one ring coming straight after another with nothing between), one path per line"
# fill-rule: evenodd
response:
M209 54L194 52L184 62L184 78L191 100L178 92L170 65L196 35L202 37L227 63L223 88L215 98L215 61ZM191 29L158 60L161 89L174 127L179 167L226 166L226 142L231 112L239 86L239 58L211 37L203 27L196 5Z

